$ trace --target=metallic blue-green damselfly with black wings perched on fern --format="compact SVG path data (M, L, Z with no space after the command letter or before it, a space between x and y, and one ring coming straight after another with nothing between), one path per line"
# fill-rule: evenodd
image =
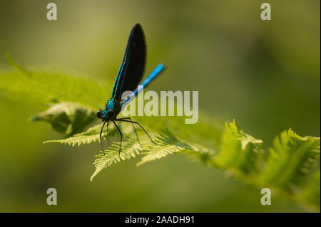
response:
M119 129L116 122L131 122L132 124L139 125L144 132L146 130L139 124L138 122L134 122L131 120L130 117L122 117L117 118L119 112L121 112L121 107L125 106L130 102L131 97L138 95L138 93L143 89L146 88L158 75L165 70L165 66L163 64L158 65L153 72L148 75L148 78L143 81L141 86L138 87L138 83L141 81L143 77L144 69L145 69L145 62L146 62L146 43L145 37L143 33L143 28L141 25L137 23L133 26L131 30L131 34L128 38L128 43L125 51L125 56L123 57L123 62L121 63L121 68L119 68L115 84L113 85L113 92L111 93L111 98L108 100L106 104L105 110L99 110L97 112L97 117L103 120L103 126L101 127L101 133L99 134L99 141L101 142L101 149L103 149L103 142L101 141L101 134L103 132L103 127L107 122L107 139L108 139L108 125L109 122L113 122L116 126L119 134L121 134L121 130ZM138 87L138 88L137 88ZM121 102L121 95L123 92L130 90L133 91L130 97L127 97L126 100ZM136 133L136 129L133 125L133 129ZM149 139L151 137L146 132ZM138 139L138 136L137 136ZM123 134L121 134L121 141L123 140ZM153 142L153 139L151 139ZM109 139L108 139L109 144ZM103 149L103 154L105 154L105 150ZM121 143L119 146L118 155L121 154Z

